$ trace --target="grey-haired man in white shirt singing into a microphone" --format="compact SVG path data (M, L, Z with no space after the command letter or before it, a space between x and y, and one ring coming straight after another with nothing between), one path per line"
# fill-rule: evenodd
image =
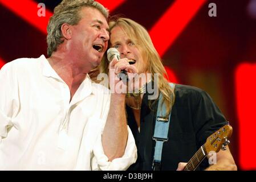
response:
M64 0L47 27L50 57L1 69L0 169L124 170L135 163L125 95L87 74L107 49L107 17L95 1ZM111 67L137 72L125 59Z

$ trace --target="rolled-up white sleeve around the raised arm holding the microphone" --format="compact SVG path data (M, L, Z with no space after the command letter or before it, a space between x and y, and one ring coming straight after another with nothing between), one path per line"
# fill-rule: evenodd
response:
M104 154L103 146L101 143L102 133L97 137L95 147L93 149L94 157L92 158L92 170L107 170L107 171L121 171L126 170L131 164L136 162L137 148L135 139L133 138L132 131L128 129L128 140L125 148L124 155L121 158L113 159L112 162L108 161L108 157Z

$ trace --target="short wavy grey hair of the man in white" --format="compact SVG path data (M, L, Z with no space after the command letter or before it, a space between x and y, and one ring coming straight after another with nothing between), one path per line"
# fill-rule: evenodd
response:
M79 15L82 7L92 7L100 11L108 19L108 9L94 0L63 0L54 9L47 26L47 55L51 56L58 46L64 42L61 27L63 23L76 25L82 19Z

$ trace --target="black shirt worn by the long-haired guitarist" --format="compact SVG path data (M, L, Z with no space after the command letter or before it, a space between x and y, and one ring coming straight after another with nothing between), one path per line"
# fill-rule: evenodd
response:
M226 119L212 98L201 89L176 84L175 102L170 117L167 142L162 148L161 170L176 170L179 162L188 162L206 139L226 125ZM137 146L138 159L128 170L152 170L155 140L152 139L157 102L149 109L148 93L143 96L140 115L140 133L137 129L132 109L127 106L128 125L132 130ZM208 167L206 158L198 167Z

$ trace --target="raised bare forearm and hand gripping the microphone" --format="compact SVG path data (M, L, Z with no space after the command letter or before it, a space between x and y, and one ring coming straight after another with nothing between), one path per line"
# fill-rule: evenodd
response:
M129 65L127 59L121 59L119 61L114 59L109 64L110 87L114 89L114 91L116 91L116 86L123 84L123 81L119 81L119 78L117 78L117 74L123 69L137 72L135 67ZM126 85L123 84L122 88L125 88L125 86ZM125 94L114 92L111 94L110 109L102 135L103 150L109 161L124 155L127 137Z

